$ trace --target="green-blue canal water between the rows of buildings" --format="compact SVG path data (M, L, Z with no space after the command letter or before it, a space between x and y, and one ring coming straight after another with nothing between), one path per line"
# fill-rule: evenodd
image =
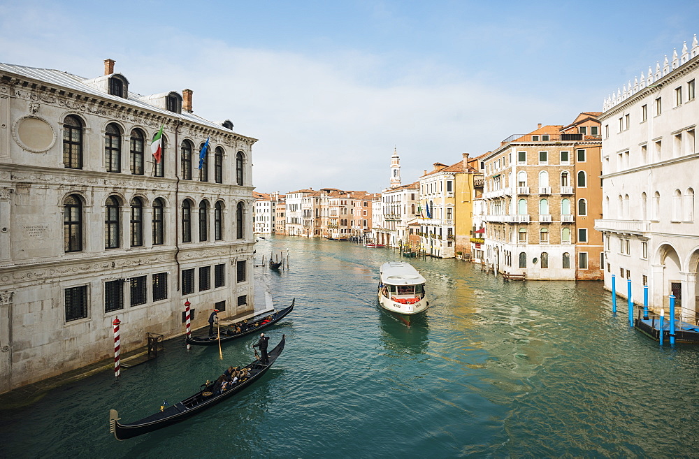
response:
M122 421L190 395L249 340L164 356L0 411L2 457L490 458L699 456L699 349L664 349L612 316L600 282L503 282L469 263L411 260L431 307L411 328L382 312L391 249L275 238L290 268L268 273L294 312L261 384L171 428L125 442ZM404 258L404 260L407 260ZM623 308L622 308L623 309Z

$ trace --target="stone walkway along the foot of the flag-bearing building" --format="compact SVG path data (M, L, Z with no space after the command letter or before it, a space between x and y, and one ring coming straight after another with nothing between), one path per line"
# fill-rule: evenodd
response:
M268 282L266 282L267 276L268 272L266 271L266 266L255 266L254 312L226 317L226 319L222 319L222 325L238 322L245 319L250 319L250 317L257 316L258 314L264 314L265 312L274 310L274 304L272 302L272 293L269 289ZM185 333L170 337L167 341L176 340L184 334ZM150 360L148 358L147 346L122 353L120 356L120 360L122 363L122 370L126 370L127 366L133 367L134 365L138 365L138 363L143 363L147 360ZM12 391L0 394L0 410L31 405L32 403L41 400L41 398L44 395L46 395L46 393L48 393L50 390L54 388L63 386L64 384L70 384L72 382L79 381L80 379L90 377L99 372L104 372L108 370L114 370L114 358L106 358L105 360L100 360L99 362L91 363L90 365L85 365L84 367L76 368L75 370L59 374L58 376L43 379L42 381L37 381L35 383L27 384L26 386L13 389Z

